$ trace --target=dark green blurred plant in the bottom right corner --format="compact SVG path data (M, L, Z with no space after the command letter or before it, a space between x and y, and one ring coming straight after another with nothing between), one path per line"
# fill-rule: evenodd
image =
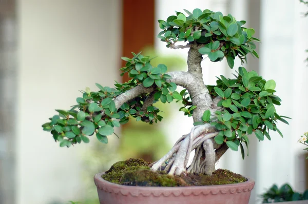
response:
M308 200L308 190L303 194L294 192L290 185L284 184L279 189L276 185L273 185L265 193L261 195L262 203L284 202L284 201L296 201L296 200Z

